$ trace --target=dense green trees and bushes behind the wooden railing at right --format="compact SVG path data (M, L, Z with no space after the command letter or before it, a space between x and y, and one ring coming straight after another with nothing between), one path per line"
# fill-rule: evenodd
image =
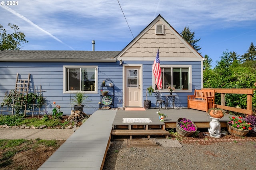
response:
M215 68L211 69L204 63L204 88L256 88L256 61L239 63L236 57L235 52L227 50ZM220 94L215 95L215 103L220 104ZM246 109L247 95L225 94L225 104ZM256 90L252 96L252 109L256 111Z

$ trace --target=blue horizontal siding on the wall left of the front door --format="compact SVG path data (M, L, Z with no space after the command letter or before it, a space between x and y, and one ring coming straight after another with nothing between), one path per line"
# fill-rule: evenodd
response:
M86 114L92 114L99 108L98 102L100 102L100 85L102 80L110 78L114 82L114 107L122 107L121 103L118 103L119 99L122 99L122 66L119 63L0 63L0 101L4 98L6 91L15 89L17 73L21 79L27 79L30 73L30 92L39 92L40 85L42 87L42 94L46 98L46 107L41 108L47 110L48 113L52 113L54 108L53 102L61 107L64 115L70 115L73 104L70 98L74 94L63 94L63 66L67 65L82 65L98 66L98 93L86 94L88 100L85 103L86 107L84 112ZM36 90L34 90L34 88ZM36 110L36 109L35 109ZM43 112L42 112L43 113ZM42 114L41 113L41 114ZM34 113L38 114L38 113Z

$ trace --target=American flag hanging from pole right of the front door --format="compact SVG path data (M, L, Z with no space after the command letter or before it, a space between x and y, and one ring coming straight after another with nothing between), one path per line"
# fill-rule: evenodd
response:
M156 59L153 64L153 73L155 76L155 84L158 90L162 89L162 72L160 67L160 60L159 60L159 49L157 50Z

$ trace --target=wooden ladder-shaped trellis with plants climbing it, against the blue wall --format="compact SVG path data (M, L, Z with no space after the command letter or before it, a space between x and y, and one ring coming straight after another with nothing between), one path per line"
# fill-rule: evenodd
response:
M30 80L30 74L28 74L28 79L20 79L19 74L17 73L15 92L22 94L22 96L28 95L29 80ZM15 101L13 101L13 103L14 102ZM27 103L23 105L25 107L24 109L24 116L25 116L26 110L27 110ZM14 107L12 107L12 115L13 113L14 113Z

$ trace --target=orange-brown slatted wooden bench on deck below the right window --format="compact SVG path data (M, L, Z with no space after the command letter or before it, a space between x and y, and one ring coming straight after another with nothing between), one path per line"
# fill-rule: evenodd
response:
M188 109L208 111L214 108L214 89L195 90L194 95L188 95Z

